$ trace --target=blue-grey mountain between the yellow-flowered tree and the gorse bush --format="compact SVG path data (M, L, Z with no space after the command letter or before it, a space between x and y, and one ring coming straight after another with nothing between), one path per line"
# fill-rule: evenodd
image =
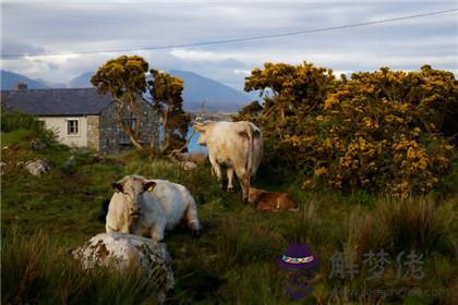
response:
M198 110L205 100L208 111L238 111L250 102L245 94L193 72L172 70L169 73L184 82L184 109Z

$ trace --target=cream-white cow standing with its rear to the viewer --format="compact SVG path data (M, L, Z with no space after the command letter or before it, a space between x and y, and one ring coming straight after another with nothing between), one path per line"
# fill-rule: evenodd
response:
M240 180L243 199L248 199L251 178L263 157L263 133L251 122L212 122L194 124L201 133L198 144L208 147L208 159L222 186L221 166L227 168L228 192L233 192L233 172Z

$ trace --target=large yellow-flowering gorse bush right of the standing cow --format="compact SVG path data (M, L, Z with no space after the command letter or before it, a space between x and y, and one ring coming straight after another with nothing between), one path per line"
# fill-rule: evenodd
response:
M458 132L453 115L458 114L458 84L453 73L427 65L420 72L383 68L336 81L328 70L311 64L296 69L322 81L296 81L301 85L297 95L291 87L277 90L262 112L245 113L243 119L263 127L266 155L300 170L304 187L383 191L406 198L429 192L446 173L454 147L444 134ZM292 73L294 68L282 64L281 71L286 70ZM257 84L264 72L256 70L246 84ZM266 88L268 82L263 81L256 88ZM288 107L281 108L285 100ZM281 115L273 115L278 109Z

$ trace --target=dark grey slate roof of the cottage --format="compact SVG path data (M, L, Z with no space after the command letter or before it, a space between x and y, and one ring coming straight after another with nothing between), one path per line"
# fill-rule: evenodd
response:
M10 90L1 97L8 109L41 117L99 114L112 101L95 88Z

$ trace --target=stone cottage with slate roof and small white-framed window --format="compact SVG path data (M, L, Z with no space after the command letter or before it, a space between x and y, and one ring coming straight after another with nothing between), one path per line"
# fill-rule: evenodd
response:
M110 95L95 88L17 89L3 91L9 110L37 117L47 129L56 131L59 141L69 146L87 147L100 152L117 152L131 143L117 123L118 105ZM138 98L141 142L158 141L159 117ZM137 118L133 118L135 122Z

